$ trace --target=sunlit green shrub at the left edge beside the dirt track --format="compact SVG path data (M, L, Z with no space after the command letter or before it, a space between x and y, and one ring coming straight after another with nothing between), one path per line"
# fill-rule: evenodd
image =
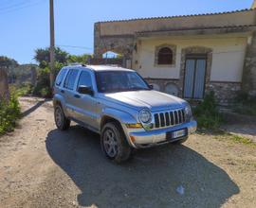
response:
M10 95L9 102L0 101L0 135L13 130L20 116L20 105L17 95Z

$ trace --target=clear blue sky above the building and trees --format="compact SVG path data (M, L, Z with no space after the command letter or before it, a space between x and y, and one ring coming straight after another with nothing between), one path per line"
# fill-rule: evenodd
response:
M54 0L55 42L71 54L93 53L94 23L250 8L253 0ZM49 0L0 0L0 56L35 62L49 45Z

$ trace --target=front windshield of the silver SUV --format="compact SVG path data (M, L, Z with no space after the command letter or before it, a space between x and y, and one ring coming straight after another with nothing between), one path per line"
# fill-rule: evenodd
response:
M96 78L100 93L150 90L146 81L132 71L98 71Z

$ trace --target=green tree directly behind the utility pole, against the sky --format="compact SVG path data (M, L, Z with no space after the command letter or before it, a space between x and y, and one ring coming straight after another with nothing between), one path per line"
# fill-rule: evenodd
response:
M67 62L68 53L60 47L55 48L55 61L60 63ZM49 48L38 48L35 50L34 60L39 63L39 67L46 68L49 64Z

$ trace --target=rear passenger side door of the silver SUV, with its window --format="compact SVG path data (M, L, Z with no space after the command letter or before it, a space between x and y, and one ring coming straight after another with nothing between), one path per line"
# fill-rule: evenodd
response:
M77 119L75 84L77 83L78 75L79 69L69 69L64 80L64 88L61 91L61 93L64 95L66 112L68 113L69 117L74 119Z

